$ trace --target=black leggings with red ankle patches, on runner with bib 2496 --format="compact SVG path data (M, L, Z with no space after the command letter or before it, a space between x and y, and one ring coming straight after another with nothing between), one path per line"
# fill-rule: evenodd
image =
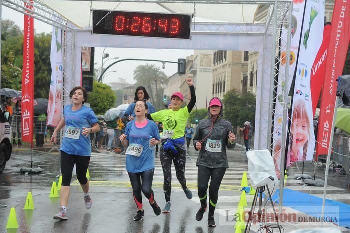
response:
M153 202L154 200L154 192L152 190L152 182L154 175L154 168L150 170L146 170L139 173L127 172L130 177L130 182L133 191L133 199L136 202L137 208L142 208L142 195L141 191L147 197L149 202ZM142 183L141 183L142 178Z

